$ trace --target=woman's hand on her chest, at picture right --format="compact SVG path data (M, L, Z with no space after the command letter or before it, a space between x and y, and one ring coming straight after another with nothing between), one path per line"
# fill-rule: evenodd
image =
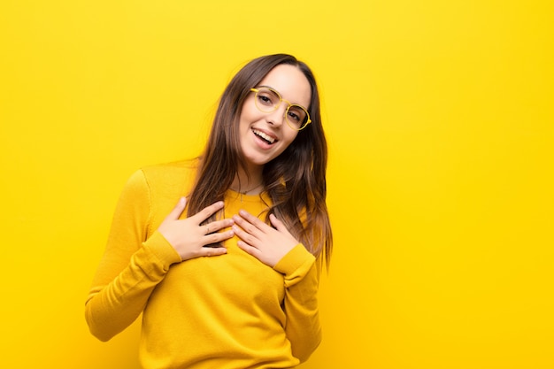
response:
M239 211L239 215L235 215L233 220L233 230L241 239L237 245L272 268L298 244L281 220L273 214L269 215L269 221L274 228L247 211Z

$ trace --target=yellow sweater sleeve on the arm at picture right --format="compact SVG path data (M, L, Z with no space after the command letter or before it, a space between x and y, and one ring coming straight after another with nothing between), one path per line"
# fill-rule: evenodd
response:
M285 275L285 333L291 343L292 354L301 363L312 355L321 342L317 298L320 265L304 245L298 244L274 266L277 272Z

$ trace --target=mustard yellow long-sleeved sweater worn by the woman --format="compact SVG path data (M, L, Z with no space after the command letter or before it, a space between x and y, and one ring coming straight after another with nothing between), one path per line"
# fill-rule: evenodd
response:
M136 172L117 205L104 258L88 295L92 334L107 341L142 313L145 369L290 368L321 340L320 258L302 244L271 268L242 251L181 262L157 231L195 175L192 163ZM265 202L270 204L268 198ZM227 191L225 217L259 214L259 196Z

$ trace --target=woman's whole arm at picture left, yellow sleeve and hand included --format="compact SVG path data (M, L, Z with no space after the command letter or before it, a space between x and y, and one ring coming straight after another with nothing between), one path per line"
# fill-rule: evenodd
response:
M152 290L164 280L172 264L190 258L224 255L227 253L225 248L204 246L234 235L233 231L222 231L233 225L231 219L201 226L205 219L223 207L223 202L216 202L192 217L181 219L187 204L184 197L158 227L160 219L152 219L152 213L171 205L167 203L170 198L167 197L168 188L163 187L164 182L161 196L159 186L158 192L151 190L150 186L159 185L159 181L151 173L147 181L143 171L136 172L127 181L119 198L104 258L85 308L91 333L102 341L109 340L135 321L144 310ZM153 210L152 202L156 203L156 210ZM158 230L154 231L155 227Z

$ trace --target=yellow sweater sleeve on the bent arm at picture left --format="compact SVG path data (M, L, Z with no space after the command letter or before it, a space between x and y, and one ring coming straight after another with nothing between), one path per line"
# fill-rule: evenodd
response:
M101 341L133 323L170 265L181 261L158 231L147 239L150 213L148 182L138 171L119 198L104 257L85 304L88 328Z

